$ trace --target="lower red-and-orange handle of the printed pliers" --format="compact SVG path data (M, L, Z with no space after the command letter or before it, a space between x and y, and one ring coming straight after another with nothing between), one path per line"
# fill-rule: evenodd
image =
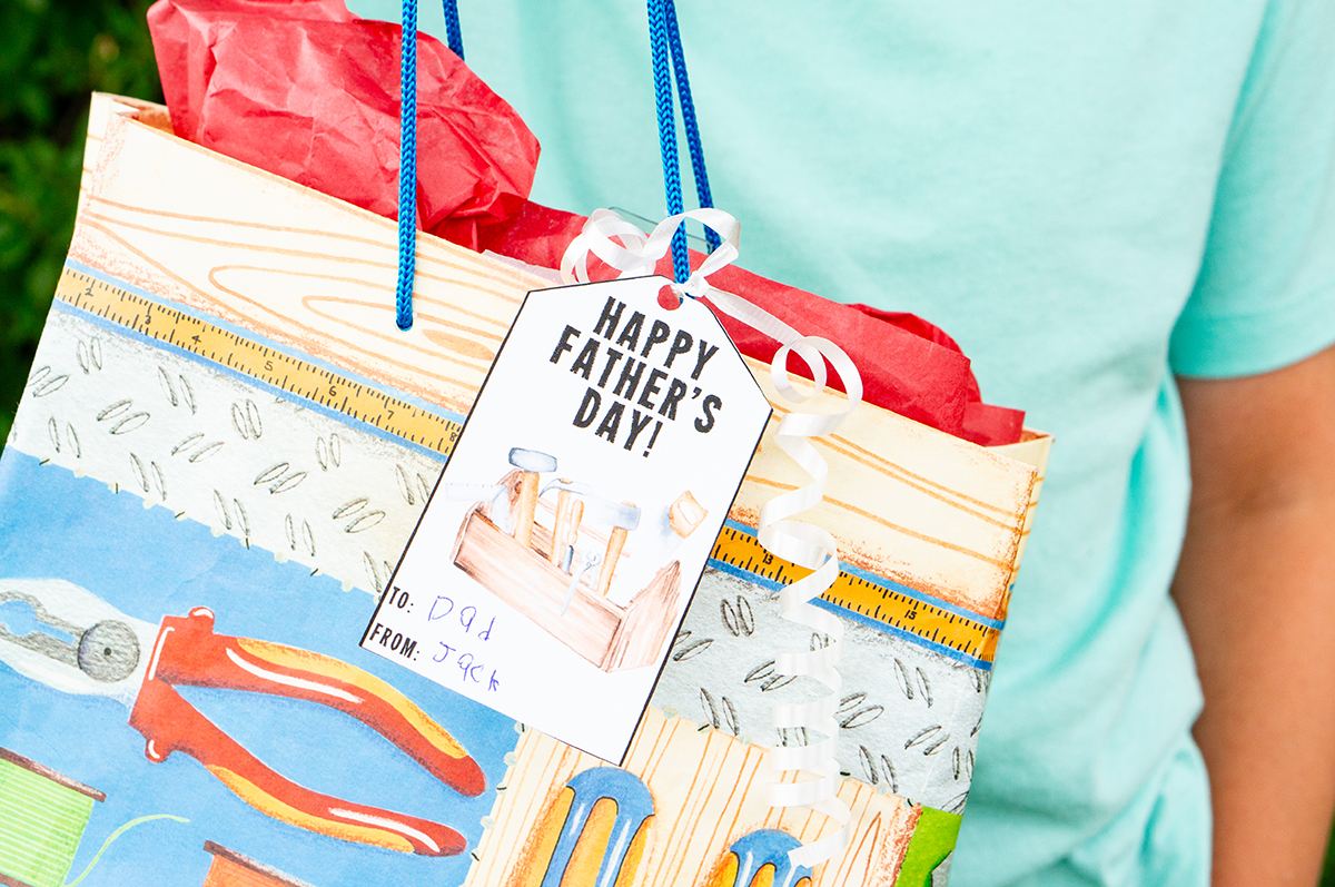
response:
M267 816L320 835L425 856L463 852L463 836L439 823L314 792L278 775L162 680L147 679L129 715L152 761L180 751Z

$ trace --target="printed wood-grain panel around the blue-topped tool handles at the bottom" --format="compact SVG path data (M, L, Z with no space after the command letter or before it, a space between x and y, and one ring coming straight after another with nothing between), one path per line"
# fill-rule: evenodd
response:
M546 871L554 843L549 814L562 799L569 803L566 781L603 765L537 731L525 732L517 759L491 815L497 824L478 844L470 887L539 883L537 871ZM630 882L637 887L705 884L733 842L758 828L809 842L834 827L806 810L769 806L764 748L654 708L645 712L625 769L649 787L655 808ZM852 810L848 850L817 870L812 887L892 887L918 808L854 780L844 780L840 797Z

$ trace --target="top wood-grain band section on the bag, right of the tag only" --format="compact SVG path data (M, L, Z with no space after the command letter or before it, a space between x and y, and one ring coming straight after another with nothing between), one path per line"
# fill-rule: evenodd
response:
M746 363L776 407L730 513L756 526L765 501L808 478L774 444L786 411L768 367ZM833 411L842 399L826 389L816 405ZM989 618L1004 616L1032 466L868 405L814 446L830 470L825 501L802 520L832 532L842 560Z

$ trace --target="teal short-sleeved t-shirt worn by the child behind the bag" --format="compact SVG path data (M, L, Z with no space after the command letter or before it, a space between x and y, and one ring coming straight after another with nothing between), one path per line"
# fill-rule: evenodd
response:
M542 142L534 199L661 218L643 4L461 7L470 65ZM1173 375L1335 341L1335 4L678 12L740 264L937 323L1057 439L952 883L1206 884Z

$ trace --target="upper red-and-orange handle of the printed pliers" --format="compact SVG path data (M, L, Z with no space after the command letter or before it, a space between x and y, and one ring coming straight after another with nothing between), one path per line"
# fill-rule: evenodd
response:
M218 687L304 699L358 719L403 749L433 776L467 796L486 789L486 776L455 739L379 677L330 656L283 644L214 633L214 614L163 618L156 669L144 680ZM138 705L136 705L138 708Z

